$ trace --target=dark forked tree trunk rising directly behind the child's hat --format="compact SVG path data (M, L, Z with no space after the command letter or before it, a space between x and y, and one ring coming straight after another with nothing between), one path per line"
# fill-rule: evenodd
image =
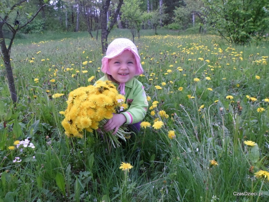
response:
M101 43L102 43L102 51L103 54L106 53L106 49L108 47L107 44L107 37L110 31L112 30L115 22L117 21L117 17L120 13L120 8L123 4L123 0L119 0L119 3L117 4L117 8L112 12L112 17L109 18L109 23L107 19L107 13L110 5L110 0L104 0L102 7L101 7Z

